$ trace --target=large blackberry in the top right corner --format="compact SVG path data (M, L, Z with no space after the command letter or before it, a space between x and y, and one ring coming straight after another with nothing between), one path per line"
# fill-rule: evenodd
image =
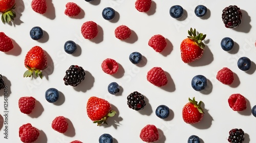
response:
M236 28L241 24L242 11L238 6L228 6L222 10L222 21L226 28Z

